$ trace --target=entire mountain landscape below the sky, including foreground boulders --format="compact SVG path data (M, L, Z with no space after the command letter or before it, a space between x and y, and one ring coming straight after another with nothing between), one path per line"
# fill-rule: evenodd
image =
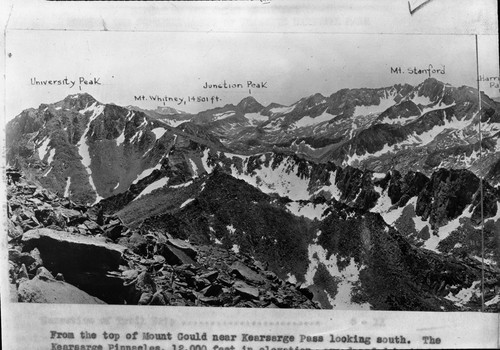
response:
M500 102L434 77L310 93L24 106L11 300L500 311Z

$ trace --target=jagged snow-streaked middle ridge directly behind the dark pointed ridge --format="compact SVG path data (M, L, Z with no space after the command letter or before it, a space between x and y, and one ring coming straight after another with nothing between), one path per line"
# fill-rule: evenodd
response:
M441 168L431 177L419 172L403 175L396 170L385 174L343 168L333 163L317 164L296 155L240 156L203 147L180 161L179 164L174 161L165 164L129 190L104 199L98 205L105 213L118 213L128 224L139 225L162 211L178 209L184 201L196 198L202 191L202 179L222 172L263 193L282 197L281 201L287 203L285 213L322 220L327 208L324 202L334 199L364 212L379 213L417 246L434 251L443 248L448 252L469 249L478 254L477 239L472 237L477 236L480 224L480 180L468 170ZM183 182L176 182L180 179L175 175L177 171L182 173L181 169L190 169L194 163L202 163L202 167L195 172L184 171ZM228 177L220 181L227 186L232 183ZM483 192L487 257L498 261L495 227L500 225L500 192L487 182L483 184ZM164 197L166 193L169 194ZM176 199L167 199L171 196ZM234 198L240 197L234 194ZM253 206L252 203L248 205ZM460 241L453 234L457 230L468 232L466 235L471 239ZM443 240L446 244L441 245ZM453 248L455 245L457 247Z

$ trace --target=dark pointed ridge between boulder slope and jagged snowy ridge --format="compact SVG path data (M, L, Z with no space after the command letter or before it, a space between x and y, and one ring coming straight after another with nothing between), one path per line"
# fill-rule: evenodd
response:
M410 197L401 200L405 193L422 192L429 179L421 176L425 181L417 186L415 182L422 180L418 174L403 181L392 174L390 188L395 204L401 201L406 208ZM347 184L354 178L344 180ZM385 181L387 190L391 181ZM477 308L481 264L472 256L480 255L476 229L469 228L467 239L450 235L443 241L446 254L432 252L417 247L422 246L422 241L418 235L412 236L408 221L401 219L391 227L379 213L371 213L369 206L360 204L353 207L352 203L324 197L292 201L265 194L218 167L185 186L153 191L126 205L117 215L147 230L247 252L269 264L279 277L307 285L314 300L325 308ZM448 215L443 214L442 218ZM404 218L413 222L407 214ZM486 231L486 243L487 252L497 259L494 232ZM436 237L430 232L428 235L423 242L431 235ZM494 261L486 266L490 276L488 301L495 298L496 266ZM387 289L388 285L399 287ZM464 303L459 300L461 295L470 295L471 299Z

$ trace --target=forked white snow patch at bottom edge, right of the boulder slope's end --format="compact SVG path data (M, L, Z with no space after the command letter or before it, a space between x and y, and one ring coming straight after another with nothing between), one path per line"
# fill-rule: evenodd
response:
M330 276L337 282L337 294L334 296L328 292L330 304L334 309L338 310L370 310L371 306L368 303L356 304L351 300L352 290L356 283L359 282L359 268L354 259L351 258L349 265L339 270L337 266L337 257L335 254L330 255L327 259L327 251L318 244L310 244L308 249L309 265L307 267L304 287L314 284L314 276L318 271L319 264L323 264Z

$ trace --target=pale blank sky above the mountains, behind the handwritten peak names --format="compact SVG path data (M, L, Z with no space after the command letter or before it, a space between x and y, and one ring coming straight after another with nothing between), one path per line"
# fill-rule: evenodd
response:
M480 38L481 74L497 76L498 37ZM435 76L452 85L476 86L475 42L471 35L376 35L294 33L151 33L103 31L8 32L6 59L7 119L23 109L88 92L118 105L156 108L134 95L171 97L218 95L222 102L172 107L197 112L249 95L243 90L204 90L202 85L267 81L252 89L263 105L289 105L320 92L341 88L418 84L426 76L390 74L390 67L445 65ZM32 86L31 78L100 77L102 86ZM481 89L499 96L499 89Z

